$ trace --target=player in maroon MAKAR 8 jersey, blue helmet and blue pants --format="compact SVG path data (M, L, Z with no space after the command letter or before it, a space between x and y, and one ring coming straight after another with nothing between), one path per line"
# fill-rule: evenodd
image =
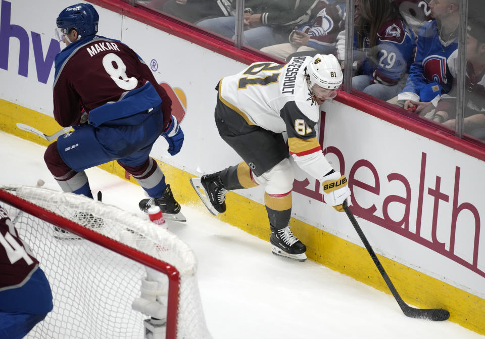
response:
M66 44L55 60L54 118L73 126L45 151L47 168L66 192L91 197L84 170L116 160L148 193L140 209L160 206L165 217L185 221L165 176L149 157L162 135L176 155L183 132L172 102L150 68L124 43L96 35L99 15L90 4L64 9L58 39Z

